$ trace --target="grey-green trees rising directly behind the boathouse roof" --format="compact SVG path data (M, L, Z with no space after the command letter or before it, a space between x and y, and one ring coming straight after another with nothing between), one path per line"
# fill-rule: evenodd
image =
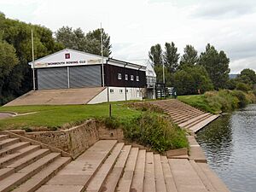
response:
M101 46L101 29L96 29L92 32L84 34L80 29L72 29L72 27L62 26L55 32L56 41L64 44L66 48L81 50L91 54L102 55ZM103 55L111 54L110 37L108 33L102 29Z

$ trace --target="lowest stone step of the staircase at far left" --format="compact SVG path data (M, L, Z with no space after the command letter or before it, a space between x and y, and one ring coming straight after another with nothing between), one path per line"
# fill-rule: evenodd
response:
M43 170L32 176L25 183L22 183L12 192L33 192L37 190L64 166L67 166L71 160L70 157L58 157L55 161L50 163L49 166L44 167Z

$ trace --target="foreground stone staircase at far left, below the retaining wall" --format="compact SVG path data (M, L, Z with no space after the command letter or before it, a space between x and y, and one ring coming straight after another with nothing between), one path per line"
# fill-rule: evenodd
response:
M35 191L70 161L20 137L0 135L0 191Z

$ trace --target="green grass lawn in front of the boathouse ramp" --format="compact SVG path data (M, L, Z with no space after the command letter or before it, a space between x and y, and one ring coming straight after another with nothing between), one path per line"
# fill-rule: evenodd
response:
M31 127L61 127L85 119L108 117L108 108L108 103L95 105L1 107L0 112L37 113L16 116L9 119L0 119L0 130ZM122 105L122 102L112 103L113 117L118 117L120 120L132 118L140 113L142 112L125 107Z

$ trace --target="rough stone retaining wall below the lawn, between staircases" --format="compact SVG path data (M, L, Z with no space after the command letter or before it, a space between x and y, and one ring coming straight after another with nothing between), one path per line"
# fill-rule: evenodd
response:
M120 129L108 130L104 125L100 125L95 120L90 119L83 125L67 130L26 132L24 136L54 148L60 148L72 154L73 158L76 158L100 139L122 141L123 131Z

